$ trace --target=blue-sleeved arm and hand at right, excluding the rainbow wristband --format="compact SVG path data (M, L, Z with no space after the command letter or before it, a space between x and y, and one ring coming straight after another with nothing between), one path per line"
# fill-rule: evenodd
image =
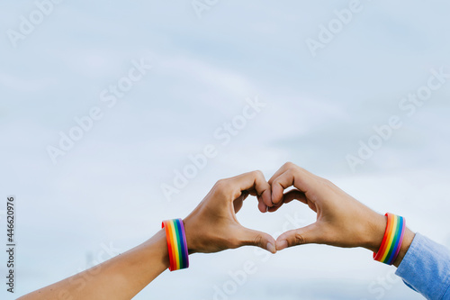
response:
M286 163L269 180L269 184L272 186L273 201L273 204L266 204L269 212L275 212L281 205L296 199L317 213L316 223L280 235L276 240L277 250L307 243L363 247L374 252L379 250L386 218L356 201L329 180ZM295 189L284 193L289 186ZM429 240L424 241L420 235L415 237L406 228L400 253L393 262L394 266L400 266L397 274L430 299L450 299L450 255L443 248ZM444 293L447 297L443 298Z

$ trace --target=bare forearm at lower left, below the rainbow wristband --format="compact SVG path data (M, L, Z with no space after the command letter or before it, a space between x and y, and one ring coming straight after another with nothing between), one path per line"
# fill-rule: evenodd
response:
M19 299L128 300L168 268L168 265L166 233L161 230L148 241L125 253Z

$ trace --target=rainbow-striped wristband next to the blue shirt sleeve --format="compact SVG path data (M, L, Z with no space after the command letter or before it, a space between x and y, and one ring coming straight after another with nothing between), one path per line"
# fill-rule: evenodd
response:
M392 265L400 252L406 220L400 215L390 213L385 215L388 217L388 224L382 245L378 252L374 253L374 259Z

